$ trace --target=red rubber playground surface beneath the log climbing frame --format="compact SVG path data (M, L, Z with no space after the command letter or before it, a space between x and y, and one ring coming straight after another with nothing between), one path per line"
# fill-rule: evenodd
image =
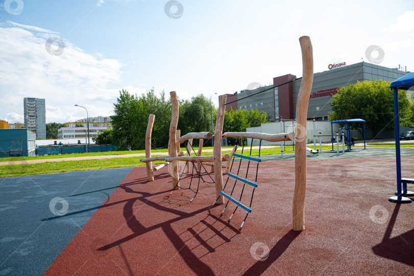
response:
M402 175L412 177L414 158L401 159ZM207 210L213 185L200 183L188 203L189 190L168 197L167 168L147 182L146 168L136 167L45 275L414 274L414 203L387 201L396 189L395 158L307 164L303 232L291 230L293 160L260 164L241 232L246 212L239 208L227 222L232 202L221 217L223 205ZM250 173L254 177L256 168ZM245 195L249 199L251 190Z

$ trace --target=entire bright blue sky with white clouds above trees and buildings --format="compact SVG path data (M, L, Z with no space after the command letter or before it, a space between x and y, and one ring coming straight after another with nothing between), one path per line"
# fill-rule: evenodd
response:
M0 120L24 122L44 98L46 122L110 116L121 89L180 99L234 93L361 61L414 71L414 2L0 0ZM250 85L251 86L251 85ZM215 95L217 93L217 95Z

